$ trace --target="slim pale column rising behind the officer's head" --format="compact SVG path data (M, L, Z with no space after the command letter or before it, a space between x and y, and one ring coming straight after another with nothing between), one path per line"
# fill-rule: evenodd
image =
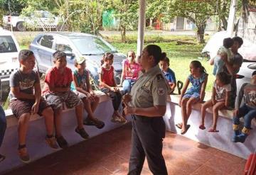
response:
M142 54L144 45L144 30L146 22L146 0L139 0L139 24L138 24L138 40L137 40L137 60Z

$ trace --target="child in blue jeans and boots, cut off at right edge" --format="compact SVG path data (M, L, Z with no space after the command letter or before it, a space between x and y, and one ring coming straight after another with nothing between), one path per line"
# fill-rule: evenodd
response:
M242 98L245 104L240 107ZM236 103L233 117L233 142L245 142L245 139L250 135L251 122L256 118L256 71L252 72L250 83L242 84L238 101ZM240 118L244 118L244 127L242 132L239 130Z

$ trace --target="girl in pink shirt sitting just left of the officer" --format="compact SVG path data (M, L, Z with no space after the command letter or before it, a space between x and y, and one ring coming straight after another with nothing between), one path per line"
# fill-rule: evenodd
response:
M124 60L122 67L122 77L119 86L123 87L124 94L129 93L133 84L139 76L141 70L140 65L135 62L135 52L130 50L127 52L127 60Z

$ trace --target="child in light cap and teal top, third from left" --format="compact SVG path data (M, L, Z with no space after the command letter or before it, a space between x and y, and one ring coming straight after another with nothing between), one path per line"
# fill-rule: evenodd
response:
M75 60L75 71L73 72L73 83L71 84L71 90L78 94L78 97L84 104L85 111L88 113L87 118L83 121L84 125L95 125L101 129L105 126L101 120L97 119L94 115L95 109L99 104L100 98L96 96L92 91L90 85L90 74L85 69L85 57L78 57Z

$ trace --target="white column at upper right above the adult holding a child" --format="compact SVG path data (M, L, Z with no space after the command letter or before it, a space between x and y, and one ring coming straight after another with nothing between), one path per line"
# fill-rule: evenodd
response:
M233 31L234 31L235 11L236 11L237 5L238 5L238 0L232 0L230 4L230 13L228 16L228 28L227 28L227 33L229 37L233 35Z

